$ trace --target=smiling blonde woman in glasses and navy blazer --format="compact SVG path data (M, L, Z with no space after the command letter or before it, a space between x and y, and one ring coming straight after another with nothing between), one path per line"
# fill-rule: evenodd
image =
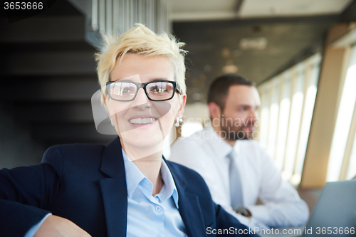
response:
M0 236L248 236L199 174L162 157L187 100L182 46L141 24L106 38L98 78L117 139L1 170Z

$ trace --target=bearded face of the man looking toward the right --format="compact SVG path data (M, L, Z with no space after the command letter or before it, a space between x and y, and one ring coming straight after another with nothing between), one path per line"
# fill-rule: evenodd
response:
M257 110L261 105L254 86L232 85L221 114L221 131L229 140L251 139L258 120Z

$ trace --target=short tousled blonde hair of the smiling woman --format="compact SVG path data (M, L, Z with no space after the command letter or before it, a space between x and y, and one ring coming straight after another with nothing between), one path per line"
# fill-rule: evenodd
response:
M185 94L185 65L184 56L187 51L182 47L185 43L178 42L174 36L167 33L157 35L141 23L123 33L121 36L103 36L103 51L95 53L98 62L98 78L101 88L105 88L110 81L110 73L115 68L118 58L126 53L137 53L145 56L163 56L168 58L174 68L174 80Z

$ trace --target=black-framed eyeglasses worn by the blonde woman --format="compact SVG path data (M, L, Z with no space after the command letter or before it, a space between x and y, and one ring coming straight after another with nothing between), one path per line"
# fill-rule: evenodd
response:
M182 94L179 85L170 80L155 80L149 83L135 83L127 80L115 80L106 83L106 90L112 100L131 101L135 100L138 90L143 88L147 98L153 101L170 100L177 90Z

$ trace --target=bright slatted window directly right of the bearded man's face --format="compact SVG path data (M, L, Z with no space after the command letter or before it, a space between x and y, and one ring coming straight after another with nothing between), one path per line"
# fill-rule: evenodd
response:
M281 169L283 179L298 185L313 115L320 53L258 85L261 95L260 143Z

